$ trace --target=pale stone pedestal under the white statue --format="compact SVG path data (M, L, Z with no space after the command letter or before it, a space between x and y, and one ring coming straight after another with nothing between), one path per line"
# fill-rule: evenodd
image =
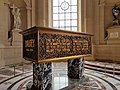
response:
M12 45L13 46L22 46L22 35L19 32L21 29L12 30Z

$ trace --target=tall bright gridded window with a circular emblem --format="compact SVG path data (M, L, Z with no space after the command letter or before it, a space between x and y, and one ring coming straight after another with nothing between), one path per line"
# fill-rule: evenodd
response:
M78 1L53 0L53 27L64 30L77 31Z

